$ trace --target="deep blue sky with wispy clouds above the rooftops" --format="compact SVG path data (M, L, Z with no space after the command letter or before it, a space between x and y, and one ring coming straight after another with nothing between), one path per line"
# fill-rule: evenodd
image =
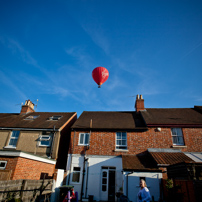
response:
M103 66L100 89L92 70ZM0 112L202 105L202 1L0 1Z

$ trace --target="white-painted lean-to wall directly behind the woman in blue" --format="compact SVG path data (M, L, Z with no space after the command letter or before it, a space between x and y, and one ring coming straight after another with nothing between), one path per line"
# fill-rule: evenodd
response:
M127 195L126 184L127 184L127 172L123 173L124 177L124 195ZM146 172L135 172L128 175L128 198L130 201L137 202L137 194L139 192L140 177L145 177L147 187L150 191L151 197L154 196L154 200L157 201L160 197L160 179L162 173L146 173Z

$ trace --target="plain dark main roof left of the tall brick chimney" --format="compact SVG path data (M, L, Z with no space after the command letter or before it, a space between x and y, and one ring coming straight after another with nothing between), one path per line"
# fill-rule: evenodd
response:
M73 124L74 129L89 129L92 120L92 129L146 129L146 125L136 112L88 112L84 111Z

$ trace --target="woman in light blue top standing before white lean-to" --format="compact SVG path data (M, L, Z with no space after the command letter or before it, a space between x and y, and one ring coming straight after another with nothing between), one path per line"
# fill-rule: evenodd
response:
M149 189L147 188L146 182L141 179L140 180L140 190L137 194L138 202L150 202L151 196L149 193Z

